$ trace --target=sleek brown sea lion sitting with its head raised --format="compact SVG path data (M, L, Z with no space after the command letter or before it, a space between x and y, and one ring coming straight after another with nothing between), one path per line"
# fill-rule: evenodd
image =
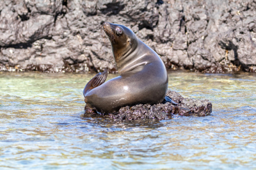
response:
M109 22L102 27L111 42L119 76L106 81L108 70L97 73L84 88L84 109L110 113L125 105L163 102L168 75L157 53L128 27Z

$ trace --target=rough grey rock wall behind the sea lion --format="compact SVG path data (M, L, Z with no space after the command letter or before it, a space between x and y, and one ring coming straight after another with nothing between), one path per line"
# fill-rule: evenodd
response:
M100 31L114 22L167 68L255 72L255 16L255 0L0 0L0 70L115 72Z

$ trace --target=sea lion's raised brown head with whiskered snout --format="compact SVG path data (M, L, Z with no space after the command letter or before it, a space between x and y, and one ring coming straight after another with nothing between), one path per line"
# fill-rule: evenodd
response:
M103 29L111 42L116 61L136 48L136 35L128 27L104 22Z

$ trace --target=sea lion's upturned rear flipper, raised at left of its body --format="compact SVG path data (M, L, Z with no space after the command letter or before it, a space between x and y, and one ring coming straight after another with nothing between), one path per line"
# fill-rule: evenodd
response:
M97 88L101 84L103 84L108 77L108 69L105 68L104 72L97 73L84 87L83 94L85 94L90 91L93 88Z

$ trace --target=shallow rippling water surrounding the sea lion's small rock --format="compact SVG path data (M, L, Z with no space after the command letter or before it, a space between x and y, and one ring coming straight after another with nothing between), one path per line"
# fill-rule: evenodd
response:
M212 114L147 122L83 118L92 77L0 72L0 169L256 169L255 74L171 72Z

